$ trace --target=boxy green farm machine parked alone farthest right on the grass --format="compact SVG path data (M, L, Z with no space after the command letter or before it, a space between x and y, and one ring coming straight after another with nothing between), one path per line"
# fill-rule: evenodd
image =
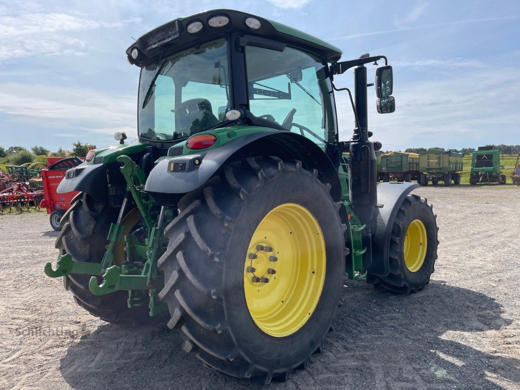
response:
M471 156L470 184L500 183L505 184L504 166L500 165L500 151L479 147Z

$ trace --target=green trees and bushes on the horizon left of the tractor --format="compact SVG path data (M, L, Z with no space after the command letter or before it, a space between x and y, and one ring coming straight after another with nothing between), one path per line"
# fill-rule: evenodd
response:
M64 150L60 147L56 152L50 152L47 148L37 145L30 150L22 146L8 148L0 146L0 164L22 165L39 162L45 165L47 157L85 157L89 150L95 148L95 145L83 144L80 141L74 142L71 150Z

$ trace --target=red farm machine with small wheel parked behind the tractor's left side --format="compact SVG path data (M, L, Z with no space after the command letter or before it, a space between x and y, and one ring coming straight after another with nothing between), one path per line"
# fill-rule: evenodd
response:
M54 230L61 230L60 219L70 207L70 201L77 191L57 193L56 189L60 181L65 177L65 172L83 161L77 157L47 157L47 168L42 170L44 199L40 202L42 209L47 209L50 215L50 226Z

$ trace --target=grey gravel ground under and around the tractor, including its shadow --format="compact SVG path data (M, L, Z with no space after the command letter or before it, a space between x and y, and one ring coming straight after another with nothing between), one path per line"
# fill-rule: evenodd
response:
M426 187L439 258L421 292L349 282L307 370L270 389L520 388L520 188ZM47 278L57 233L43 212L0 216L0 389L242 389L164 326L123 328ZM264 387L265 388L265 387Z

